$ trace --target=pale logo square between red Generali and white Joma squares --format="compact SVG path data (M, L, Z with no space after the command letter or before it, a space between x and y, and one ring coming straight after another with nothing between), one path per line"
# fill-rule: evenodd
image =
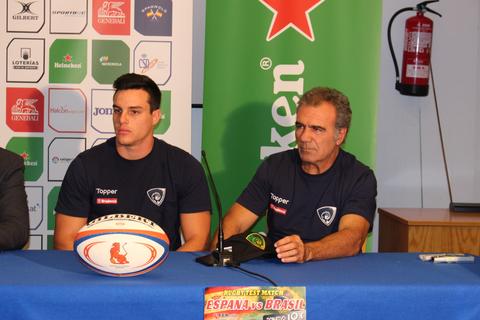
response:
M56 132L85 133L87 98L80 89L48 90L48 125Z

